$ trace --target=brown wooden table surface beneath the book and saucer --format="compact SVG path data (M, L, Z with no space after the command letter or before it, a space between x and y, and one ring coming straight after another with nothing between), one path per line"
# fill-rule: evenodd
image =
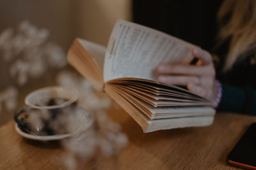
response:
M115 158L97 157L78 169L236 169L227 154L256 117L217 113L210 127L144 134L123 110L109 111L122 125L129 144ZM65 152L58 142L40 143L15 132L13 120L0 127L0 169L65 169L54 163Z

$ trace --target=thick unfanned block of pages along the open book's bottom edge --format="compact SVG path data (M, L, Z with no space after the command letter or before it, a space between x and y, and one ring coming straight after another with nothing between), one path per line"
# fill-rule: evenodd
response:
M111 85L106 85L106 92L108 92L109 96L111 96L122 108L124 108L129 115L141 126L143 132L152 132L163 129L173 129L178 127L200 127L211 125L214 120L214 110L211 108L202 108L201 115L198 114L192 116L182 117L182 115L178 115L177 117L172 118L160 118L156 120L150 120L143 111L140 110L137 106L134 105L133 102L125 99L125 95L112 89ZM175 111L173 108L173 113L179 114L179 112ZM191 110L191 109L189 109ZM187 111L189 111L187 110ZM184 111L185 112L185 111ZM183 113L184 113L183 112ZM193 111L189 111L188 115L193 113ZM180 117L181 116L181 117Z

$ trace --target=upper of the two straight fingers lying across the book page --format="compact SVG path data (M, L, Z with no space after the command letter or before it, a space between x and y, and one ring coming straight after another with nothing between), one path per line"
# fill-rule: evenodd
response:
M203 75L205 72L205 68L191 65L161 64L157 67L156 71L158 74Z

